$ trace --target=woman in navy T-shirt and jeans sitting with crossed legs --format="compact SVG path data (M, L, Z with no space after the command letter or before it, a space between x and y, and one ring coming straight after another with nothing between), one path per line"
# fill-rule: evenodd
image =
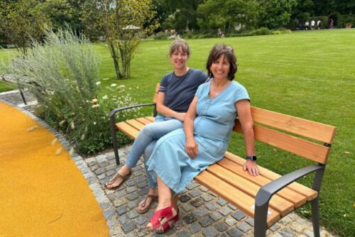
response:
M154 123L150 123L139 132L134 141L126 163L116 175L105 184L107 189L118 189L131 176L131 169L136 166L143 154L144 160L150 158L156 141L177 128L182 128L186 111L195 95L197 87L206 82L207 75L202 70L187 67L190 47L185 40L175 40L170 45L170 62L174 71L161 79L157 111ZM138 212L148 211L152 202L157 199L155 180L148 177L148 195L138 204Z

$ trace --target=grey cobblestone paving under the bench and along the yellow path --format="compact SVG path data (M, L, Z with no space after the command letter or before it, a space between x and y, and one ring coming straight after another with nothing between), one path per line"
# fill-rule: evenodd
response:
M22 104L18 92L0 93L1 99L12 105ZM6 97L6 98L4 98ZM17 99L9 99L17 98ZM27 99L27 98L26 98ZM31 100L30 100L31 101ZM33 106L25 106L32 109ZM19 108L23 113L28 114L35 121L52 131L62 143L70 150L60 133L50 128L40 118L35 117L25 109ZM121 148L119 155L121 163L124 163L131 147ZM224 199L217 197L205 187L193 181L180 194L180 220L165 234L155 234L145 230L149 218L153 215L156 203L146 214L139 214L136 211L138 202L148 192L146 173L141 161L133 168L133 175L122 187L116 191L104 189L104 183L112 177L119 167L116 165L113 152L96 155L91 158L82 158L73 154L72 159L80 168L82 174L92 189L97 202L103 210L107 219L110 237L121 236L253 236L253 219L246 216L235 206L232 206ZM273 237L312 237L312 222L297 214L289 214L268 229L267 236ZM321 236L334 236L322 228ZM334 236L335 237L335 236Z

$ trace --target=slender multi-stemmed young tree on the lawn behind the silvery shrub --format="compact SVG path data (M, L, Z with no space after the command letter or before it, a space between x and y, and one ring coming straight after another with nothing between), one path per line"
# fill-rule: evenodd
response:
M87 16L109 45L117 79L128 78L141 38L158 26L152 0L94 0L87 5Z

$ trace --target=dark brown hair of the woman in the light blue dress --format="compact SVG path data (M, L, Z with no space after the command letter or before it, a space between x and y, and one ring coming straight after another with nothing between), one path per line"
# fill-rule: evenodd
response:
M208 71L208 76L210 78L213 77L211 72L211 65L213 62L216 62L219 57L224 55L229 61L229 72L228 79L232 81L234 79L234 75L236 74L236 55L234 55L234 50L230 46L227 45L214 45L211 52L209 52L206 69Z

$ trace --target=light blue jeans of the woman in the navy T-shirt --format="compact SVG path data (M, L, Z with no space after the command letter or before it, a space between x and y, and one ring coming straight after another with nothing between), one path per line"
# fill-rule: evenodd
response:
M144 156L144 165L151 157L153 153L155 143L165 134L174 131L175 129L182 128L182 121L176 118L169 118L163 115L155 117L153 123L149 123L138 133L136 140L134 141L129 156L126 160L126 165L129 167L135 167L141 155ZM156 180L147 173L148 187L157 187Z

